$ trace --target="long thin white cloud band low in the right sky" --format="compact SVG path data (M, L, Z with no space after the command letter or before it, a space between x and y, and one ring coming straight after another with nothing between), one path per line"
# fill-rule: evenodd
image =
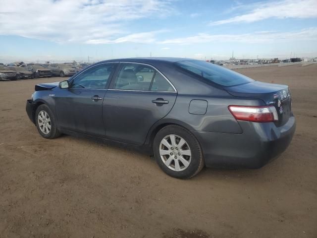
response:
M196 36L175 38L160 42L161 44L201 44L211 42L239 42L239 43L273 43L273 42L290 42L305 41L317 39L317 28L307 28L301 31L292 32L255 32L248 34L223 34L211 35L201 33Z

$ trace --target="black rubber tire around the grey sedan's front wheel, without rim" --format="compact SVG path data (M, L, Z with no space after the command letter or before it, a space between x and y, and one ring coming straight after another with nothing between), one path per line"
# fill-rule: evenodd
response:
M38 116L39 116L39 113L41 111L46 112L49 115L50 119L51 119L51 130L47 134L43 133L42 130L40 129L40 126L39 126ZM57 129L56 119L55 119L54 114L52 113L50 108L47 105L45 105L45 104L40 105L36 109L36 112L35 112L35 123L36 123L36 127L38 128L38 131L39 131L40 135L42 135L46 139L54 139L54 138L60 136L60 134L61 134L58 131L58 129Z

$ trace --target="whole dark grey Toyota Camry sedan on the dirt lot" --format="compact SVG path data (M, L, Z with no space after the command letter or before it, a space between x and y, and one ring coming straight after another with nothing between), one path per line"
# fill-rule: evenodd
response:
M26 112L44 138L82 134L136 146L181 179L204 166L260 168L296 127L288 86L180 58L92 64L36 85Z

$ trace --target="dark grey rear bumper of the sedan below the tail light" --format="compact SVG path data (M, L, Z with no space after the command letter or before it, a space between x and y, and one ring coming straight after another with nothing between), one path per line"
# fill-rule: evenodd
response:
M261 168L286 150L296 128L294 116L280 127L270 122L239 124L241 134L193 131L201 143L207 167Z

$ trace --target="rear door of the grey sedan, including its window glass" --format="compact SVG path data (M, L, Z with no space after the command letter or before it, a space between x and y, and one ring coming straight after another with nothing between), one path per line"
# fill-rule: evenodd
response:
M103 103L106 137L142 145L151 126L172 109L177 92L150 65L120 63L117 71Z

